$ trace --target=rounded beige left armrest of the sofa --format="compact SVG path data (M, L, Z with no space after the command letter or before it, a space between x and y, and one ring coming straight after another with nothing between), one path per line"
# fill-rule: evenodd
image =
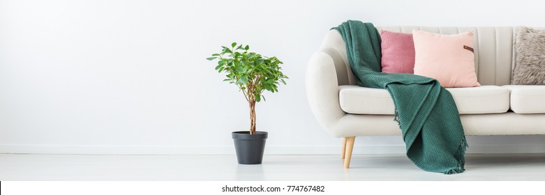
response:
M338 121L346 114L338 99L339 68L336 68L345 65L343 59L332 52L336 50L324 48L311 56L306 68L306 95L320 125L334 133Z

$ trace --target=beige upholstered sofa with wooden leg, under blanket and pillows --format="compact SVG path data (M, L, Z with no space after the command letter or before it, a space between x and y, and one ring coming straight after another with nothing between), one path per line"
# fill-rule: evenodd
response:
M466 135L545 134L545 86L509 85L516 27L377 27L410 33L474 33L475 70L481 87L447 88L456 102ZM358 136L401 135L394 102L385 89L355 85L343 39L336 30L325 36L306 70L306 94L324 129L343 138L341 157L350 166Z

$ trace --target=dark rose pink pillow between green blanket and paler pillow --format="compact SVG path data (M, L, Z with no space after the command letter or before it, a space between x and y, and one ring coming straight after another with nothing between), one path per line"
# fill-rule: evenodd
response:
M382 72L410 73L415 68L415 44L410 33L380 31Z

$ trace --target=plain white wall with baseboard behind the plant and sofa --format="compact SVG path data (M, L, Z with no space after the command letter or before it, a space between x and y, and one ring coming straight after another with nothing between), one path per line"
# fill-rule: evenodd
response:
M205 58L237 41L278 56L290 76L257 105L267 153L337 153L304 91L331 27L545 26L537 2L1 0L0 152L233 153L246 102ZM541 136L469 141L477 153L545 152ZM403 148L401 137L361 137L354 153Z

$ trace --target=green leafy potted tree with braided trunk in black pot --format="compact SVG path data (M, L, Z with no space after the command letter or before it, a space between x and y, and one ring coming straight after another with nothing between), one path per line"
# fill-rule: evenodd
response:
M223 81L236 85L250 107L249 130L232 132L239 164L261 164L268 133L255 131L255 103L265 100L263 91L278 92L278 85L285 84L288 76L281 72L282 61L275 56L268 58L248 49L248 45L243 47L233 42L231 47L222 46L219 54L207 59L218 60L216 70L227 77Z

